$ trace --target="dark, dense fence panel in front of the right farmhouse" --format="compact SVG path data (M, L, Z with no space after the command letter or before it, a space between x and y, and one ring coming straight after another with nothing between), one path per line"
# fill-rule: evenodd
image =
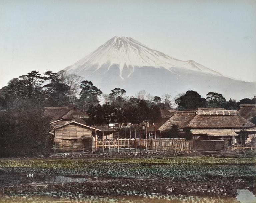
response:
M225 140L193 140L194 150L225 151Z

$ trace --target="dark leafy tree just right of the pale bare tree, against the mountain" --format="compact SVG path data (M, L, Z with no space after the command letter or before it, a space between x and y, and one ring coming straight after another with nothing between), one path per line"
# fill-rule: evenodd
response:
M78 102L81 109L86 112L90 105L94 106L99 103L98 97L102 94L102 91L88 80L82 81L80 88L81 92Z

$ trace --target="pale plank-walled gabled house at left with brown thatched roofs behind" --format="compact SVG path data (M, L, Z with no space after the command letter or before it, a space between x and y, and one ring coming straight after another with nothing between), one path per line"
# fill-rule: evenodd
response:
M75 107L45 107L44 115L51 121L51 134L56 149L62 151L85 151L97 148L98 137L112 137L113 128L89 126L86 123L88 115ZM110 136L108 136L110 132Z

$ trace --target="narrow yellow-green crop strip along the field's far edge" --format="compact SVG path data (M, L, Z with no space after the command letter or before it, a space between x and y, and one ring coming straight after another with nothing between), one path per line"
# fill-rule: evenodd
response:
M1 168L9 167L61 167L70 165L74 167L80 165L94 165L104 163L145 163L145 164L256 164L256 158L215 158L215 157L172 157L172 158L140 158L140 159L101 159L101 160L0 160Z

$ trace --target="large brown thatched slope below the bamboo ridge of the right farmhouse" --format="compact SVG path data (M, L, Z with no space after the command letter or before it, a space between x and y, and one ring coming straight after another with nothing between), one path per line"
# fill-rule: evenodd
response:
M209 116L196 115L187 125L189 128L244 128L254 127L255 125L242 116Z

